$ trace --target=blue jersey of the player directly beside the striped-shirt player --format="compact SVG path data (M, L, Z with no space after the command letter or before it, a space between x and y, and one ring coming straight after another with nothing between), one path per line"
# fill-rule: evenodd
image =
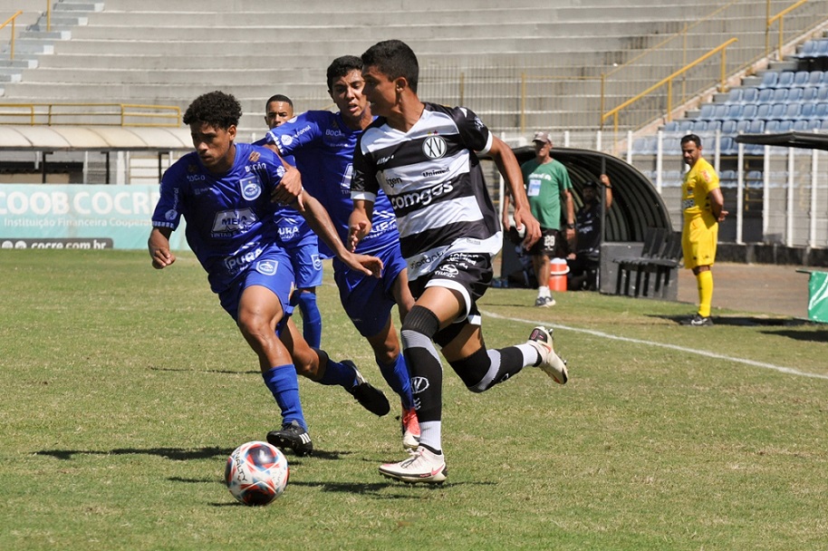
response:
M353 210L353 149L361 133L348 128L340 113L306 111L271 129L266 138L283 156L294 156L304 188L328 211L343 243L347 243L348 219ZM374 203L371 233L361 240L356 252L370 254L399 239L394 210L380 191ZM332 256L324 243L319 248L323 254Z

